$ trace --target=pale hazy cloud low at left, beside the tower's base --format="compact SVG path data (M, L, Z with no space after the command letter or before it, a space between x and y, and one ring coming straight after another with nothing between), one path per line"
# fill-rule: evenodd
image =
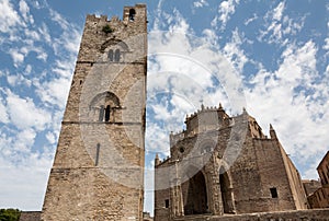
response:
M29 154L20 165L0 158L0 207L41 211L53 155Z

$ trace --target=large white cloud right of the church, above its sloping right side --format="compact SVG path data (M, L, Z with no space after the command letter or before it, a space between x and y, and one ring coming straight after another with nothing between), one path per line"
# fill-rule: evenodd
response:
M329 149L329 96L325 90L329 79L317 72L316 55L311 40L299 47L287 45L277 70L261 69L251 82L254 86L246 90L250 113L261 119L263 129L273 124L287 153L305 168L305 177L315 177L310 166Z

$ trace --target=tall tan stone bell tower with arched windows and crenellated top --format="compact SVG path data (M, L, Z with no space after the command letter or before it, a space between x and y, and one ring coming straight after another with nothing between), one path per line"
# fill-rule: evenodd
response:
M42 220L143 220L146 5L88 15Z

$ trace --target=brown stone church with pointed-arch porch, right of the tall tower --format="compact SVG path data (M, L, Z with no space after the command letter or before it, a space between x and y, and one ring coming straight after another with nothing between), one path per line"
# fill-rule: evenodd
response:
M155 162L155 221L307 209L298 171L270 126L266 137L246 109L186 116L170 135L170 158Z

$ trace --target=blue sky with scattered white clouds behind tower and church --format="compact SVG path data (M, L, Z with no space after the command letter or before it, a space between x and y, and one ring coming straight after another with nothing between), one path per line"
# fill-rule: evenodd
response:
M0 0L0 208L41 210L84 18L135 1ZM304 178L329 149L329 3L146 1L146 210L152 160L186 114L219 102L276 129ZM236 93L238 91L238 93Z

